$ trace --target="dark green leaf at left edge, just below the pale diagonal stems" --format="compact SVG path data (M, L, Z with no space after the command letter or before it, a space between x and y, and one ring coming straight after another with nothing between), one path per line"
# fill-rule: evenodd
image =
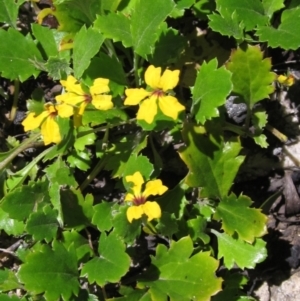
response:
M10 218L24 220L34 211L49 203L48 182L36 182L23 185L7 194L1 208Z

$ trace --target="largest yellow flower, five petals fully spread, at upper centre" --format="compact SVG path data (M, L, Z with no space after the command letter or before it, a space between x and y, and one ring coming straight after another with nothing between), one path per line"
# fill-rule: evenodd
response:
M143 88L126 89L126 99L124 104L135 106L139 103L137 119L152 123L157 114L157 105L164 115L176 120L179 112L185 107L181 105L177 98L168 95L167 92L175 88L179 81L179 70L165 70L161 76L161 68L149 66L145 72L145 82L150 86L151 91Z

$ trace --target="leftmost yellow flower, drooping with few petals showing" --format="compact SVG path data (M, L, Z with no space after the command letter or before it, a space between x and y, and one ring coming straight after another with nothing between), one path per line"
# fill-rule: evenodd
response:
M50 143L59 143L61 135L58 124L55 122L55 117L58 115L57 108L52 103L45 104L45 111L35 116L35 113L29 113L23 120L25 132L37 129L41 126L41 133L45 145Z

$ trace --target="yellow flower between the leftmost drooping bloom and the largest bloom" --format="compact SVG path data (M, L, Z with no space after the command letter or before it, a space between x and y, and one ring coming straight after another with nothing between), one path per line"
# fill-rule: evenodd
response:
M75 110L75 117L80 119L89 103L92 103L96 109L103 111L113 107L112 96L103 95L103 93L109 92L108 79L95 79L93 85L90 87L90 93L85 92L80 83L72 75L69 75L67 80L61 80L60 82L67 90L67 93L58 95L55 98L64 107L62 117L72 116ZM77 108L77 105L79 105L79 108ZM75 125L79 125L78 123L81 123L81 121L75 120L74 123Z

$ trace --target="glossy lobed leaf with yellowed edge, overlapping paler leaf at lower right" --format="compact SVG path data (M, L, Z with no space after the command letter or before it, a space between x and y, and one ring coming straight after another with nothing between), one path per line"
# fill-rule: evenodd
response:
M222 229L229 235L237 232L239 237L252 243L256 237L267 233L267 217L261 209L250 208L252 201L245 195L224 197L216 208L214 218L222 220Z

